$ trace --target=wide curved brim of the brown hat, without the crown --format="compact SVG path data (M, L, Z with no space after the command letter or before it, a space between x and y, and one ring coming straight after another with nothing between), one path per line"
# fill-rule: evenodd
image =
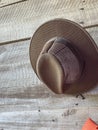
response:
M54 37L63 37L71 41L73 46L79 50L85 61L82 77L76 83L68 84L69 89L66 93L81 93L96 87L98 84L97 45L83 27L66 19L54 19L44 23L31 38L29 54L35 73L36 62L43 46Z

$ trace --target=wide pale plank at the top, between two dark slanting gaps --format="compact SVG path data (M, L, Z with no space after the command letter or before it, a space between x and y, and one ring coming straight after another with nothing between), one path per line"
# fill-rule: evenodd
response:
M31 37L42 23L54 18L94 25L97 15L97 0L29 0L0 9L0 42Z

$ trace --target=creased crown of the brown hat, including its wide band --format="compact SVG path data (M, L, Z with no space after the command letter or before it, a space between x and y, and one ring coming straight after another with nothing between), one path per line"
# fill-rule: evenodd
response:
M56 64L60 67L55 68ZM56 70L53 70L53 68ZM59 71L59 69L61 69L62 72L55 75L54 73L57 73L56 71ZM81 77L82 69L82 60L77 50L64 38L56 38L53 41L49 40L43 47L37 62L38 76L49 87L56 85L56 83L54 83L56 82L55 79L58 79L58 77L60 78L60 75L62 75L62 82L60 83L61 88L64 84L66 87L66 84L76 82ZM55 77L53 77L53 75ZM50 82L52 82L53 85Z

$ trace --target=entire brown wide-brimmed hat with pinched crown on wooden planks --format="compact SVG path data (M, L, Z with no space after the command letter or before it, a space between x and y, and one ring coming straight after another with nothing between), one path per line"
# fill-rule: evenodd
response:
M98 48L80 25L69 20L51 20L37 29L30 61L55 93L81 93L98 83Z

